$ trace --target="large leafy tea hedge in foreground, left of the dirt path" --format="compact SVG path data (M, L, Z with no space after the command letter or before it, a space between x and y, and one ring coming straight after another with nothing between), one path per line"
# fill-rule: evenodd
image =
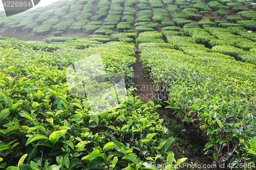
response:
M5 48L1 53L8 54L10 49ZM108 43L90 51L63 48L56 53L25 48L20 53L12 49L12 53L19 53L19 56L9 57L2 62L5 66L1 65L0 136L1 148L4 149L0 151L1 166L10 162L8 169L101 169L123 165L140 168L161 163L163 159L172 164L174 154L168 149L174 138L163 139L168 130L155 113L159 105L155 106L153 102L143 105L138 97L133 98L129 93L120 107L98 116L89 113L86 98L70 94L65 78L66 67L73 61L99 52L107 70L132 73L132 69L126 67L136 61L134 46L127 43ZM44 58L35 60L37 55L44 55ZM19 65L15 65L17 57L24 59L19 60ZM34 69L35 65L37 69ZM10 66L15 68L16 74ZM33 76L35 74L38 77ZM16 90L9 95L12 87ZM134 139L137 142L133 142ZM148 147L154 148L154 153ZM10 151L16 150L17 156L12 156ZM158 159L150 157L159 155L162 156ZM178 162L183 161L185 158Z

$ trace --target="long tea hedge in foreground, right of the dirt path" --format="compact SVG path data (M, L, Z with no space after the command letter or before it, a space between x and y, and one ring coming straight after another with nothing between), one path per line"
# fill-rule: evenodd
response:
M173 40L168 41L174 44ZM255 119L252 118L255 113L255 105L253 102L249 102L255 100L253 92L255 84L247 83L248 78L250 82L255 79L250 73L254 66L205 50L183 49L185 53L183 54L162 46L146 46L142 43L139 47L143 65L149 72L151 81L158 87L159 93L161 91L158 99L162 101L166 101L166 98L169 99L166 102L169 106L166 108L172 109L177 115L176 117L180 117L177 118L180 119L180 122L183 120L184 126L188 127L184 131L185 133L188 133L189 136L196 135L195 139L206 143L206 154L212 155L208 157L214 159L217 165L225 162L225 166L227 166L231 159L253 163L254 158L247 153L246 146L255 133L253 130ZM176 46L176 48L180 48L180 46ZM231 79L227 80L229 78ZM241 89L237 83L243 84L246 88ZM253 87L248 87L250 85ZM168 88L169 95L162 93ZM195 90L196 93L194 93ZM235 100L236 98L238 101ZM229 103L230 99L231 103ZM233 103L234 101L237 102ZM233 108L235 105L239 105L241 110L223 110L224 108ZM246 107L248 110L244 110L242 107ZM187 109L189 111L186 112ZM234 118L231 118L230 114ZM246 115L250 115L250 118ZM230 124L231 122L233 123ZM251 127L251 129L240 128L241 124ZM209 138L203 137L203 133L207 133ZM230 144L232 146L230 150L238 151L240 154L237 155L234 152L225 154L227 151L221 149L226 148L227 145L223 143Z

